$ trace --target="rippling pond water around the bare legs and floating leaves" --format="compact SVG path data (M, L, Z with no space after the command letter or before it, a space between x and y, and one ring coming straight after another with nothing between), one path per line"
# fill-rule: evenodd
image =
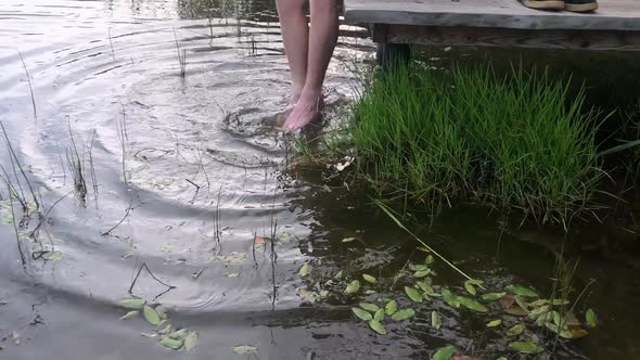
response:
M150 332L143 321L118 320L131 284L166 306L175 325L199 332L191 359L247 358L231 351L238 345L257 347L259 359L422 359L447 344L481 352L485 319L466 312L441 309L443 332L381 337L349 307L302 306L304 261L377 273L399 269L415 246L361 192L320 170L283 171L292 145L273 124L289 78L273 4L212 3L0 4L0 118L50 209L37 241L21 241L26 266L12 222L0 226L0 358L184 357L141 336ZM363 29L342 26L330 111L354 99L347 67L366 66L373 50ZM86 192L71 166L75 151ZM0 156L13 173L4 145ZM548 290L554 249L545 244L556 234L500 236L496 219L458 209L421 235L492 284ZM256 236L278 241L255 245ZM361 242L343 244L348 236ZM44 261L42 250L60 258ZM137 277L143 263L162 283L146 271ZM598 254L580 269L581 280L600 281L591 297L604 325L554 357L633 358L633 270Z

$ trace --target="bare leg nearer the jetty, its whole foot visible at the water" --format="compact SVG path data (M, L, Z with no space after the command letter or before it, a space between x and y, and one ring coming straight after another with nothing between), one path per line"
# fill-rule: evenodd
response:
M284 124L284 128L290 131L303 128L319 117L322 83L337 42L336 0L310 0L310 4L311 31L309 36L307 77L300 99Z

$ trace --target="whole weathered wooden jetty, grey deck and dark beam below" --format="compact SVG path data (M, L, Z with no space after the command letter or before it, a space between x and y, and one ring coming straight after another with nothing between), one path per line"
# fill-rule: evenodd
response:
M517 0L344 0L345 20L369 24L385 53L406 44L640 51L640 0L600 0L579 14Z

